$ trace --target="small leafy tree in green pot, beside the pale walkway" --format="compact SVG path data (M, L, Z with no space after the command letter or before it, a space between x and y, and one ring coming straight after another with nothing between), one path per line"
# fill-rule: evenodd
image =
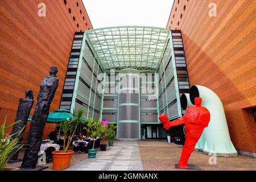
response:
M96 158L97 154L97 148L94 148L96 137L101 135L101 120L98 119L97 122L93 121L92 118L89 119L89 123L86 127L84 127L85 130L90 133L90 137L93 138L93 147L92 149L88 150L88 158Z

